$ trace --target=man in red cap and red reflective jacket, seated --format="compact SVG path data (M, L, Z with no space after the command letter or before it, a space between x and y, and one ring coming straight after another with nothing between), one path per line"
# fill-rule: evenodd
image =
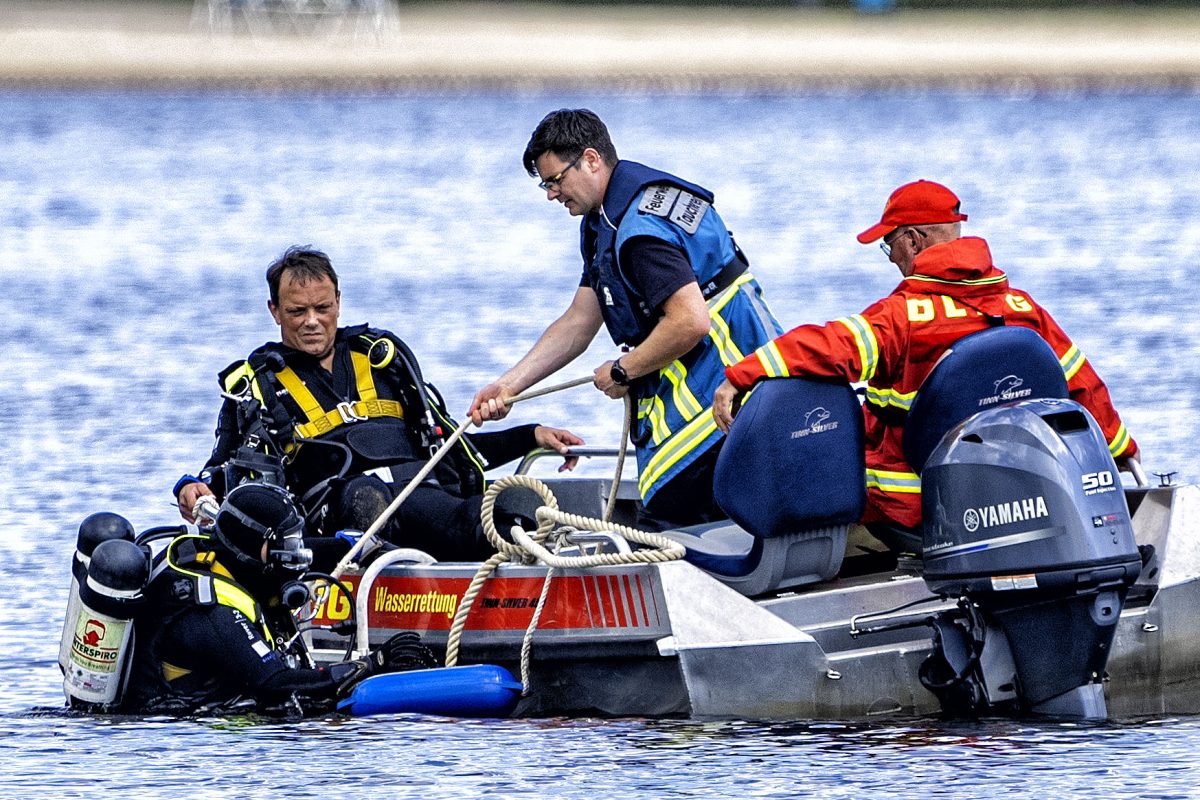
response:
M988 242L961 236L967 215L954 192L932 181L901 186L883 217L858 235L881 247L904 279L860 314L824 325L800 325L725 369L713 401L718 427L728 432L734 399L763 378L838 377L866 383L868 507L863 522L896 546L890 525L920 525L920 480L901 449L904 413L938 356L958 339L997 324L1032 327L1062 363L1072 399L1104 431L1114 458L1136 456L1099 375L1057 323L1033 299L1008 284L991 263ZM874 525L871 523L888 523ZM882 535L881 535L882 533ZM911 539L907 539L911 541Z

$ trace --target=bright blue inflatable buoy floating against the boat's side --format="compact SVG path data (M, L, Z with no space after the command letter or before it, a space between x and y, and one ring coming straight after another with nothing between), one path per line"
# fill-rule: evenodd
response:
M337 710L372 714L432 714L448 717L506 717L521 699L521 681L493 664L438 667L373 675L354 687Z

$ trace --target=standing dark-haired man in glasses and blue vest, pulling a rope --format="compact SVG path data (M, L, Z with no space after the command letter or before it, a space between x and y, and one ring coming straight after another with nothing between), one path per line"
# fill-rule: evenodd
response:
M586 109L548 114L524 166L547 199L582 217L583 275L566 311L468 413L476 423L503 417L508 398L574 361L604 325L626 351L595 368L595 387L637 401L638 525L724 518L713 499L722 434L709 419L710 398L726 366L781 329L713 193L619 161L604 122Z

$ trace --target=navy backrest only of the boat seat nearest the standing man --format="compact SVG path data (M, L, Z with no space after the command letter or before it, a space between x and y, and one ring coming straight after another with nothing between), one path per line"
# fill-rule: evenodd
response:
M844 381L774 378L742 407L713 489L758 539L858 522L866 506L863 411Z

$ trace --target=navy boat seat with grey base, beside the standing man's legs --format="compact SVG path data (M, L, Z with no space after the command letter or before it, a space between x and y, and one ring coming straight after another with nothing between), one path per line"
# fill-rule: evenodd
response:
M848 384L764 380L716 461L713 489L731 522L664 535L746 596L827 581L866 506L864 469L863 411Z

